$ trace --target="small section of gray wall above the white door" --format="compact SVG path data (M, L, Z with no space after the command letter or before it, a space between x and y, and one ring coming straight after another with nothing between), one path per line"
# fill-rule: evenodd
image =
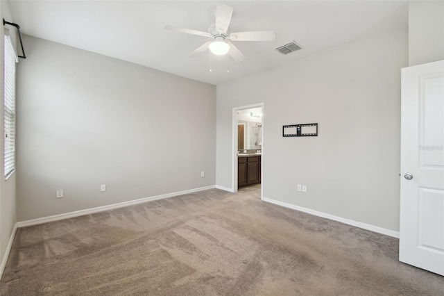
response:
M444 60L444 1L409 1L409 65Z

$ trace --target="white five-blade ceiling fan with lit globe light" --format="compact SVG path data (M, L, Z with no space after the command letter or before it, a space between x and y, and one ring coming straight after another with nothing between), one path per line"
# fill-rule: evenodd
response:
M175 26L165 26L165 30L177 31L192 35L199 35L207 38L212 38L202 46L188 55L189 58L195 58L199 54L210 49L212 54L223 56L229 54L235 61L241 62L245 59L244 54L232 44L231 41L272 41L275 39L275 31L253 31L253 32L238 32L230 33L229 26L233 8L223 4L216 6L216 24L208 28L208 33L203 31L191 30L189 28L177 28Z

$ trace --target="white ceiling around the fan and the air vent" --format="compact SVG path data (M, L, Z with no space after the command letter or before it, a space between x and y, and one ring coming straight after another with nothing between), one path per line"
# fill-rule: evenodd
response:
M232 32L274 30L275 40L233 42L246 59L236 63L214 56L212 72L209 53L187 58L207 38L164 26L206 32L214 24L216 3L234 8ZM337 47L378 28L407 26L406 1L10 0L9 6L22 33L214 85ZM293 40L302 50L288 55L275 51Z

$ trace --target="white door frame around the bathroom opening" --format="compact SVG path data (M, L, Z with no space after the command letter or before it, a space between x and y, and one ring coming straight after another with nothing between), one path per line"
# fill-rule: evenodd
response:
M233 192L237 192L237 112L240 110L251 109L251 108L262 108L262 156L261 156L261 199L264 199L264 170L262 167L264 166L264 103L251 104L247 106L239 106L233 108L232 113L232 188Z

